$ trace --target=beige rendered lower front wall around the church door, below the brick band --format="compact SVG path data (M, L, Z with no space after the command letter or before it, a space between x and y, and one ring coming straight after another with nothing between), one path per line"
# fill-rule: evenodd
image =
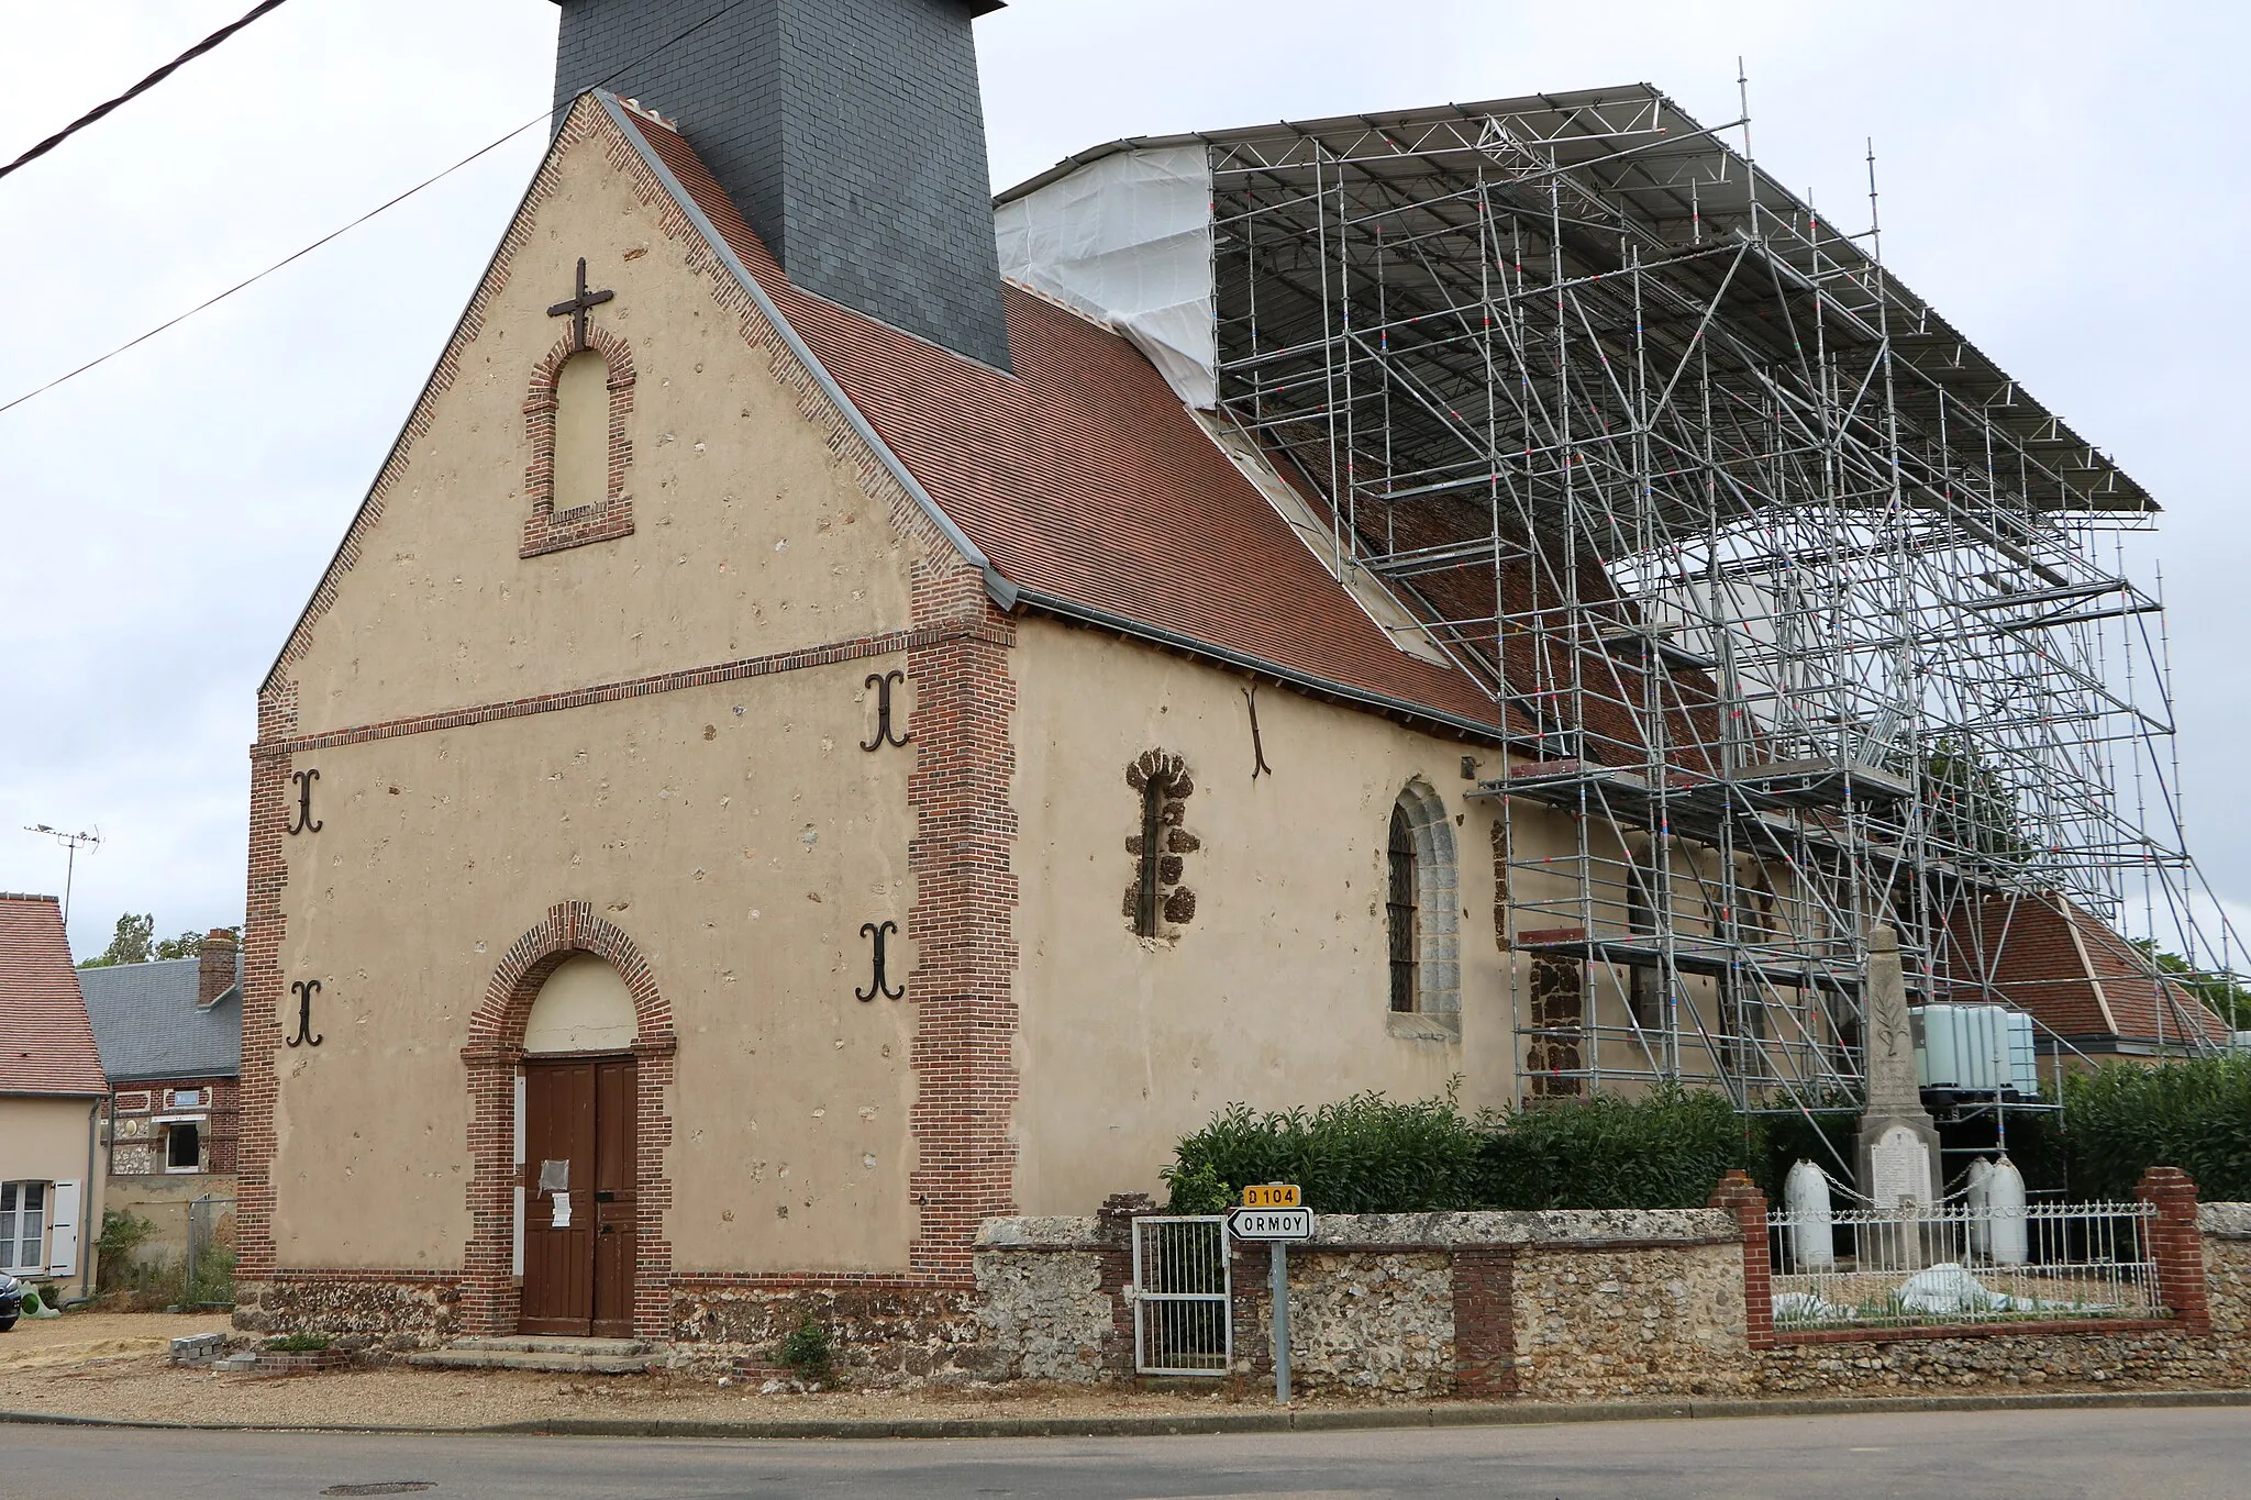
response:
M912 814L905 756L860 751L862 677L808 668L299 758L322 771L322 830L286 848L281 969L322 981L322 1046L279 1057L281 1266L459 1266L466 1019L565 897L633 936L673 1007L675 1264L905 1264L912 1014L853 990L860 922L912 902Z

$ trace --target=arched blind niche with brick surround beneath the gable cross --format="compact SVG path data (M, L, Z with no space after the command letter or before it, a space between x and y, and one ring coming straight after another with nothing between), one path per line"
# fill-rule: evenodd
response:
M531 515L524 517L520 555L633 535L633 499L626 495L633 382L626 342L594 322L588 322L585 344L565 337L531 371L524 396Z

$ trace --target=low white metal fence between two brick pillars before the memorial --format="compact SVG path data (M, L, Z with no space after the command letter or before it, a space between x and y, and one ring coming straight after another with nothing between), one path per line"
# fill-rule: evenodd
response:
M1767 1217L1774 1327L2161 1318L2150 1203Z

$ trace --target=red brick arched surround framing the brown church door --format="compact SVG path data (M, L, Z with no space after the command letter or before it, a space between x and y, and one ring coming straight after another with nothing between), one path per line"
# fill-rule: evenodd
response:
M576 954L606 960L626 981L639 1034L635 1068L635 1214L633 1214L633 1334L666 1338L671 1329L673 1246L664 1237L664 1214L673 1205L673 1181L664 1172L664 1149L673 1142L673 1118L664 1100L673 1086L678 1032L673 1007L621 927L588 902L558 902L547 920L509 945L484 987L484 1003L468 1016L468 1244L461 1250L461 1322L470 1334L513 1334L522 1304L515 1277L515 1064L522 1059L524 1023L547 976Z

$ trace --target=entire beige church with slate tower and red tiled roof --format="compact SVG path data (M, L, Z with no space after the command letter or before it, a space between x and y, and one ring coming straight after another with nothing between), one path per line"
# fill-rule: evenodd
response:
M1231 331L1290 326L1227 292L1218 146L995 209L993 9L560 2L551 148L259 690L245 1327L673 1340L716 1298L957 1298L981 1221L1162 1194L1236 1100L1578 1093L1659 1025L1675 1066L1846 1057L1857 918L1778 956L1828 866L1686 852L1686 807L1589 855L1634 778L1585 740L1756 760L1763 828L1835 837L1898 767L1681 751L1736 733L1713 652L1591 555L1492 544L1450 596L1479 555L1402 499L1427 587L1355 562L1382 526L1330 466L1373 439L1243 416ZM1258 180L1317 207L1312 157L1346 160ZM1549 679L1596 636L1535 627L1542 578L1609 600L1582 708Z

